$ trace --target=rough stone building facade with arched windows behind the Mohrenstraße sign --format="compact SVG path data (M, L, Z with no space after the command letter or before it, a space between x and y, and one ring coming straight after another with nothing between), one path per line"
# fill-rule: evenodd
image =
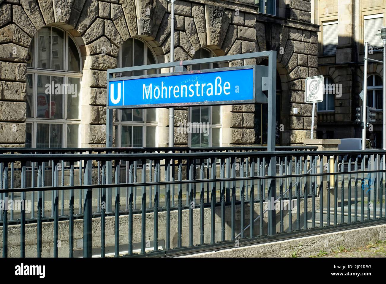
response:
M277 144L302 144L310 138L312 105L304 104L304 90L305 78L318 73L319 26L311 23L307 0L268 2L274 15L259 12L254 0L177 0L175 60L276 50ZM106 70L167 62L170 9L166 0L0 0L0 146L103 147ZM244 64L255 62L223 66ZM46 82L71 82L76 90L55 93L51 86L44 94ZM175 109L176 131L192 112ZM262 105L199 113L217 129L201 146L264 145ZM115 113L114 121L116 146L168 145L168 109ZM176 133L175 145L192 146L190 135Z

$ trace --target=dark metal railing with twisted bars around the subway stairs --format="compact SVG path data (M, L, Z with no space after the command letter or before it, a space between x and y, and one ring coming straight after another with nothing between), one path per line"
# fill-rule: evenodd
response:
M30 204L2 208L2 255L15 256L12 246L41 257L47 243L54 257L173 255L385 221L386 151L279 150L0 149L2 200ZM15 232L20 243L8 243ZM36 244L26 248L26 237Z

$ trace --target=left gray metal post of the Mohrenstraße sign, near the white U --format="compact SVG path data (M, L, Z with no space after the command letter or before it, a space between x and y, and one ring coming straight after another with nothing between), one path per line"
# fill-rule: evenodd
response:
M113 78L113 75L110 72L107 72L107 79ZM108 105L108 94L109 94L109 85L107 80L107 102ZM113 110L112 109L106 109L106 147L112 148L113 146ZM112 184L113 181L113 165L111 161L106 162L106 184ZM111 212L111 195L112 195L112 188L107 188L106 190L106 206L105 211Z

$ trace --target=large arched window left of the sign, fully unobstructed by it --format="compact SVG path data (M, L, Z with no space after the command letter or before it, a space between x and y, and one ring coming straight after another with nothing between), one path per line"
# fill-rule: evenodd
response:
M81 56L68 34L43 27L27 64L26 147L78 147Z

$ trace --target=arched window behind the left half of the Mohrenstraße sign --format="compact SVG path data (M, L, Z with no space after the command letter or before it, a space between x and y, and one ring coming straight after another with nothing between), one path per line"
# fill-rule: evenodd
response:
M130 38L119 50L118 67L155 64L150 46L141 39ZM137 76L157 73L156 70L122 73ZM117 110L115 145L118 147L155 147L157 136L157 109Z

